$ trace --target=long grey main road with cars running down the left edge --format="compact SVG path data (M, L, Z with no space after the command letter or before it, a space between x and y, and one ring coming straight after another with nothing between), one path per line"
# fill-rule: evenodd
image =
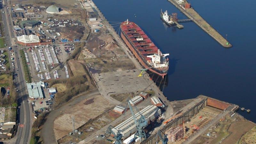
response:
M15 60L15 70L14 71L18 76L14 78L14 83L16 85L16 88L19 90L17 92L17 99L18 99L18 115L17 115L17 122L18 122L18 129L15 133L15 139L16 144L28 144L30 141L31 136L31 114L29 106L27 102L27 93L26 93L26 81L24 79L24 72L23 72L23 66L21 63L21 59L19 59L19 49L15 45L15 36L13 33L13 24L11 15L9 9L3 7L2 11L4 11L3 14L3 22L4 22L4 31L5 31L5 38L6 38L6 47L12 47L14 50L14 60Z

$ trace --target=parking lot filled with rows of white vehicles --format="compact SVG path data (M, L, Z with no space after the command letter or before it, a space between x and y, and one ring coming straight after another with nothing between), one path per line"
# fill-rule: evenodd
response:
M65 45L29 47L25 51L33 81L69 77L69 74L66 73L67 67L63 63L68 58L70 48Z

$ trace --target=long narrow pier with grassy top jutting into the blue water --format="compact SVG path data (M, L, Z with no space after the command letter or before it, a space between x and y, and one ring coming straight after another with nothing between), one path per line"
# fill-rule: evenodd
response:
M192 19L200 28L202 28L207 34L212 36L223 47L230 48L230 44L223 36L221 36L210 24L208 24L192 7L186 7L187 1L184 0L182 4L178 4L176 0L168 0L175 5L181 12L183 12L189 19ZM186 7L186 8L185 8Z

